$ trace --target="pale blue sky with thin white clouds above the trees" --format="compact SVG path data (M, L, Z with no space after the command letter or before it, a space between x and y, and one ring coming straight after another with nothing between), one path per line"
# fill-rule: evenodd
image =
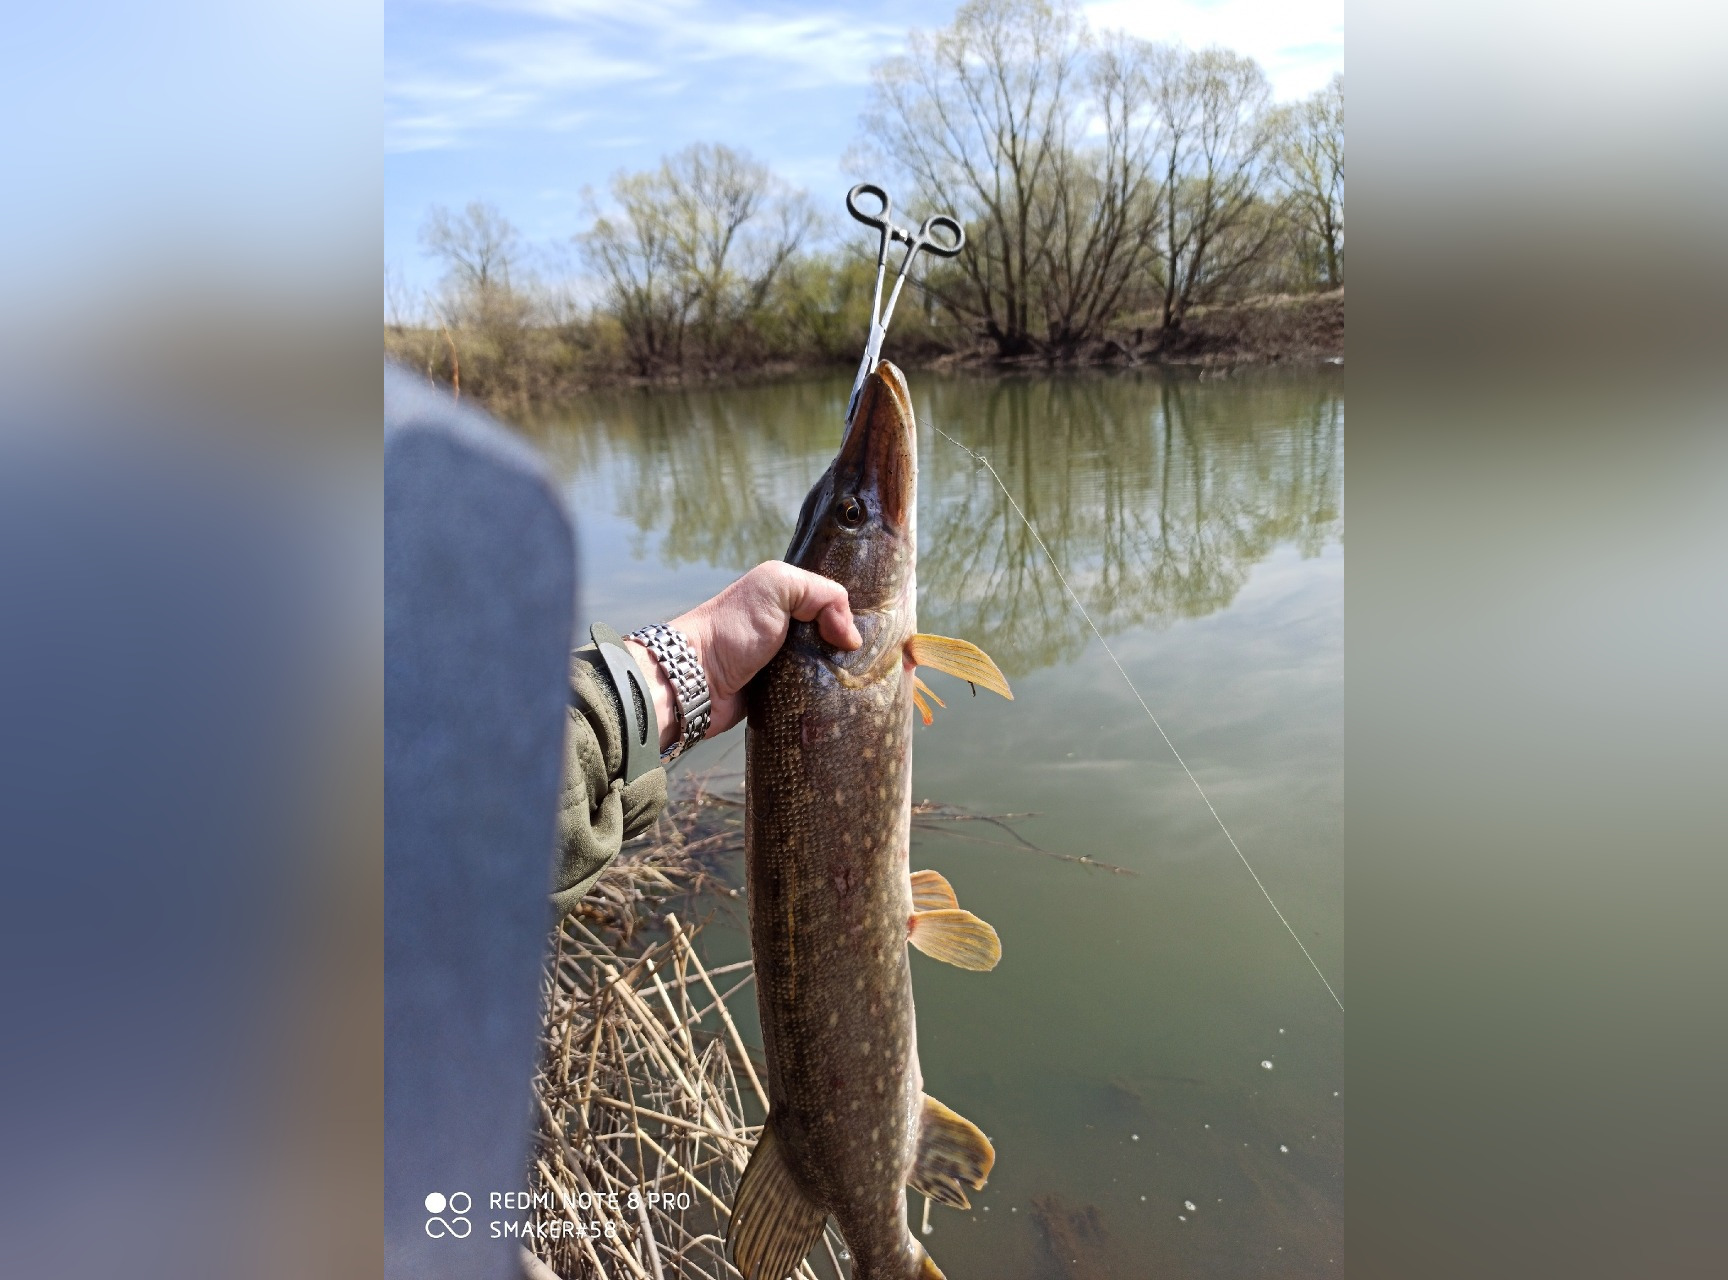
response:
M427 209L487 200L537 252L569 252L584 188L648 169L691 142L752 152L831 195L859 138L869 71L957 0L387 0L384 256L411 288L437 266ZM1344 67L1343 0L1101 0L1094 31L1125 29L1255 57L1275 97Z

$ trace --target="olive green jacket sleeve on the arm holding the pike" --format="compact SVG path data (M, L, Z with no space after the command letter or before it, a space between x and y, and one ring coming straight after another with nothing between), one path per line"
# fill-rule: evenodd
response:
M624 708L593 644L570 655L569 715L551 895L560 916L600 879L619 846L665 808L665 769L650 769L629 786L622 781Z

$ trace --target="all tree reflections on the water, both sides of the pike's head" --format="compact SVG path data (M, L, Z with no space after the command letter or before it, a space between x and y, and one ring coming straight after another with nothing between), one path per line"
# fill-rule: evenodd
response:
M840 383L620 397L575 447L607 447L620 511L670 563L743 568L785 553L843 402ZM1317 554L1343 532L1329 382L926 375L914 402L990 458L1106 636L1220 610L1275 546ZM1078 653L1085 620L988 473L924 432L919 477L923 629L1009 674Z

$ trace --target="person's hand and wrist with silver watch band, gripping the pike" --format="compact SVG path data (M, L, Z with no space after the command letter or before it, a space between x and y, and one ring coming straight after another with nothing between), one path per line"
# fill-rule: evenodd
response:
M816 622L823 639L836 648L855 650L864 643L852 622L847 589L783 560L757 565L714 599L670 618L669 625L684 632L708 677L708 738L745 719L743 689L779 653L793 618ZM653 653L636 641L624 643L638 665L653 675L664 751L677 736L677 693Z

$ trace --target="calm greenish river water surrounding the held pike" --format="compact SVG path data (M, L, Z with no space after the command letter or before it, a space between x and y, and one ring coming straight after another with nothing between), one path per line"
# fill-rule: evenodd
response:
M1009 703L926 675L949 710L918 729L914 796L1033 814L1009 826L1044 850L980 822L914 831L912 867L1002 938L988 974L912 954L926 1092L997 1152L924 1242L952 1280L1341 1275L1343 1011L1104 643L1348 1004L1343 373L909 382L919 629L1014 686ZM539 421L584 617L670 617L783 554L848 389L617 392ZM995 465L1104 643L931 425ZM741 770L741 738L681 767ZM746 954L724 919L703 940ZM733 1005L753 1035L753 990Z

